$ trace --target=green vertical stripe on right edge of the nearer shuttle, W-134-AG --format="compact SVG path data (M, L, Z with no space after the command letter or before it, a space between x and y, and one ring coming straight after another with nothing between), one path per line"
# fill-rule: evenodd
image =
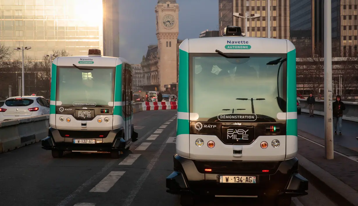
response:
M297 112L296 50L287 52L287 112ZM297 119L286 120L286 135L297 136Z

